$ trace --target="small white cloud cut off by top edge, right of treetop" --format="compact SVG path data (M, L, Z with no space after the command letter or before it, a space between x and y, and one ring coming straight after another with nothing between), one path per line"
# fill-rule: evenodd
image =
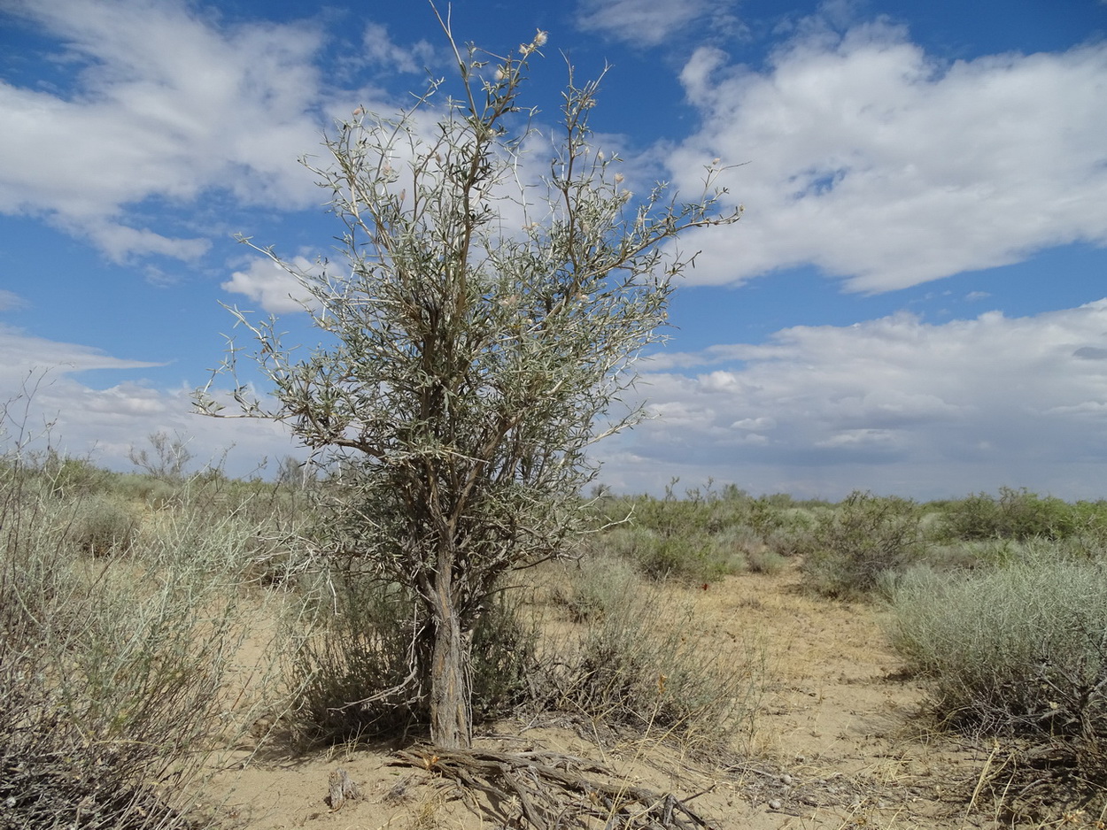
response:
M582 0L577 25L635 45L655 46L691 23L707 18L705 29L732 31L734 0Z

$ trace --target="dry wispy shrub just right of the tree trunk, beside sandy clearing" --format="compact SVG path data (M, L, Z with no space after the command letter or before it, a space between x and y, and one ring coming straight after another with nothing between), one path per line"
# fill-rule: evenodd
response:
M575 640L546 644L539 671L547 706L693 751L718 750L749 727L762 663L721 661L697 633L691 604L628 574L604 613L583 622Z

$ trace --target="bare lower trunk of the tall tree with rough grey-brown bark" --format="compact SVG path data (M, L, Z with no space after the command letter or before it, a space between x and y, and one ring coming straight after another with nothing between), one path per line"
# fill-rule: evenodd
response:
M473 746L469 644L462 633L448 572L437 580L434 654L431 660L431 740L444 749Z

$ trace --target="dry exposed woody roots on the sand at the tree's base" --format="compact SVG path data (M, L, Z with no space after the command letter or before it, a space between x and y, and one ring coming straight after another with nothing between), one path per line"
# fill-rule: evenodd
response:
M517 820L517 816L496 813L505 813L505 805L518 803L521 818L538 830L567 822L587 827L589 818L628 830L710 827L687 806L689 799L606 780L614 778L611 770L559 753L404 749L395 758L397 764L437 772L484 792L488 811L498 820Z

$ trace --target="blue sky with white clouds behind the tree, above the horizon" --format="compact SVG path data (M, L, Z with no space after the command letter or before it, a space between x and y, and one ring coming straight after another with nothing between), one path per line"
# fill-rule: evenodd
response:
M632 181L738 165L745 217L687 238L640 365L658 417L597 448L601 480L1107 497L1107 4L457 0L453 27L499 53L547 30L550 117L562 52L610 63L592 125ZM190 413L220 302L313 338L234 235L329 253L298 159L426 70L451 63L415 0L0 0L0 401L37 385L9 434L52 422L121 469L156 430L236 475L292 452Z

